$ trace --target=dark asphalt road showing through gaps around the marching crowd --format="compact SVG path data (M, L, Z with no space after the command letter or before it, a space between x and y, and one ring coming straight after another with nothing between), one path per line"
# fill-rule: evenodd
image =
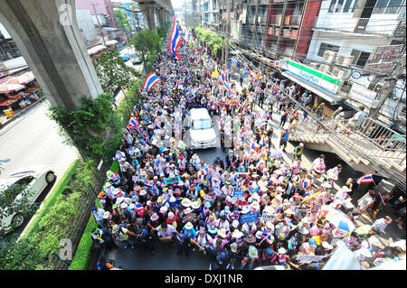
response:
M279 143L279 135L276 135L279 125L279 116L277 114L274 116L274 120L270 123L274 127L275 135L273 135L273 144ZM219 135L217 129L216 134ZM185 143L188 144L188 132L185 135ZM286 155L289 159L292 158L292 149L297 146L297 142L289 142ZM307 146L306 146L307 147ZM216 157L220 157L223 161L228 153L228 149L222 150L221 147L196 150L195 151L200 159L204 160L208 164L212 164ZM312 163L322 152L316 150L305 149L303 153L303 163L305 168L310 168L310 163ZM349 177L359 177L362 175L361 172L356 172L352 167L347 165L340 157L335 153L324 153L326 155L326 165L327 169L335 167L338 163L341 163L344 168L339 174L336 184L338 186L343 186ZM389 189L386 187L385 183L379 185L381 190ZM387 185L388 186L388 185ZM366 190L366 184L361 185L359 189L355 191L353 196L353 204L356 205L356 201L359 200L364 195ZM379 212L377 218L381 218L384 215L390 215L394 218L393 209L391 207L386 207L383 211ZM364 215L359 218L358 224L372 224L372 219L368 215ZM400 230L394 224L390 224L386 231L384 231L383 236L380 238L384 243L388 243L392 239L405 238L405 231ZM110 251L107 256L110 259L116 261L117 266L121 266L128 270L208 270L210 259L207 255L202 252L195 251L191 253L188 257L185 255L176 255L175 246L166 246L164 243L160 243L159 240L155 240L155 255L151 255L149 252L145 251L142 246L136 248L135 251L123 250L118 248L117 250ZM172 247L172 248L171 248ZM94 264L96 265L96 263Z

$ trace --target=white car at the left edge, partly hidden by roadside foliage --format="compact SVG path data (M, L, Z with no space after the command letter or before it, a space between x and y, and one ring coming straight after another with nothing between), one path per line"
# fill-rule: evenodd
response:
M33 190L33 195L31 195L29 199L30 204L32 204L37 200L38 196L41 195L45 187L54 180L55 173L49 166L42 165L27 167L14 172L5 178L0 178L0 194L12 185L27 185L27 190ZM21 194L17 195L16 200L19 198L21 198ZM0 231L4 233L10 232L10 225L12 223L15 227L19 227L23 222L24 216L18 212L9 215L8 217L0 218Z

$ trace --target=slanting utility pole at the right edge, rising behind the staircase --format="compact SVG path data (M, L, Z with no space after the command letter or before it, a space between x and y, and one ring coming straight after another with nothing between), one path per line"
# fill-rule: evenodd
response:
M402 59L395 61L396 66L395 66L392 74L390 75L390 77L384 79L385 83L384 83L383 87L379 90L379 93L375 100L375 102L377 101L376 102L377 105L375 105L374 107L372 107L369 110L368 117L370 117L372 119L377 119L379 117L380 109L383 107L386 99L392 95L393 89L397 83L397 80L400 77L400 75L402 74L403 70L405 69L405 61L406 61L406 55L405 55L405 45L404 45L404 47L402 48Z

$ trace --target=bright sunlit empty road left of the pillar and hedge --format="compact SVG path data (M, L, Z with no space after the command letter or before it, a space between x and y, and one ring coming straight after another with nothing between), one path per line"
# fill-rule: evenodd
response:
M53 168L56 181L78 158L76 148L63 144L58 125L46 114L48 101L30 107L24 115L0 129L0 163L3 168L0 177L33 165L49 165ZM40 203L52 190L55 181L48 185L37 199ZM19 235L31 218L24 220L23 226L9 233Z

